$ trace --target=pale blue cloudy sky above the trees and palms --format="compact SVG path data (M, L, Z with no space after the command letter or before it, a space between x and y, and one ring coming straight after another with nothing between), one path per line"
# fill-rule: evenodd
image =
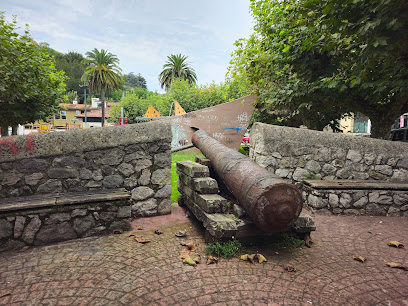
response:
M163 92L158 75L170 54L188 56L197 84L225 80L234 42L252 32L249 2L0 0L0 10L59 52L108 50L122 73L141 73L149 90Z

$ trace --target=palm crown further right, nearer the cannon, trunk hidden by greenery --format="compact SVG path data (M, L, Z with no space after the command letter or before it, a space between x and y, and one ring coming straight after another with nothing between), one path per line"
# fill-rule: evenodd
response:
M173 79L187 80L189 84L195 84L197 75L187 62L187 56L171 54L163 65L163 71L159 75L161 88L168 90Z

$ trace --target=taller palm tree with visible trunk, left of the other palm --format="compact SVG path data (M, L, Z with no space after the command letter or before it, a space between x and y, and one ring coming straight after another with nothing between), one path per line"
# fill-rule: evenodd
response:
M105 92L119 89L121 86L121 69L116 55L102 49L94 48L86 55L86 74L90 77L89 89L101 93L102 126L105 126Z

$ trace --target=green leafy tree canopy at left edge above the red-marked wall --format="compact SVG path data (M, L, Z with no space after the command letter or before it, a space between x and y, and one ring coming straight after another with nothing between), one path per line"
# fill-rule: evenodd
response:
M16 33L0 13L0 127L46 120L55 113L64 92L63 72L57 72L46 49L36 44L28 30Z

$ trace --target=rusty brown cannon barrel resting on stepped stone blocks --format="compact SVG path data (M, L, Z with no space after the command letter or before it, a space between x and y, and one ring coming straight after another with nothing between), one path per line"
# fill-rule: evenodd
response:
M296 186L219 143L203 130L194 133L192 142L210 160L215 172L259 229L266 233L290 229L303 203Z

